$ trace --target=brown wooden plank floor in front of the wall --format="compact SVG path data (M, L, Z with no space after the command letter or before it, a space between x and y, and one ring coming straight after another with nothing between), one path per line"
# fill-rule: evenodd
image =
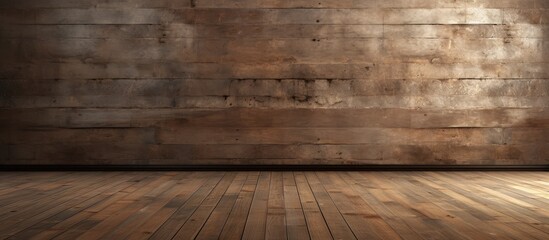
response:
M4 238L549 239L549 173L3 172Z

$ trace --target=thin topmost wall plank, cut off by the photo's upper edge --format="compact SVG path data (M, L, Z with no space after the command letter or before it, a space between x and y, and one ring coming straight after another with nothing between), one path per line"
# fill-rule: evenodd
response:
M26 0L18 2L5 1L0 4L2 8L116 8L132 6L136 8L462 8L462 7L487 7L487 8L547 8L544 0L475 0L475 1L453 1L453 0L340 0L340 1L319 1L308 0L239 0L216 1L200 0L172 1L157 0Z

